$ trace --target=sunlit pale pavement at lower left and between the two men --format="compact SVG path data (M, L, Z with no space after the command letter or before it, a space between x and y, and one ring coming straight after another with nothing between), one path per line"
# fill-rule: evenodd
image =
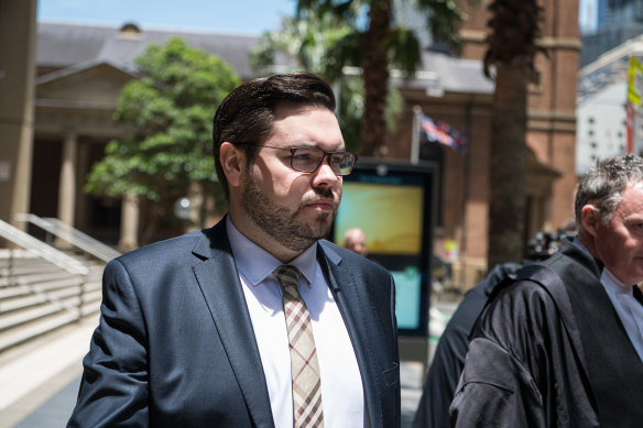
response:
M0 358L0 428L65 427L96 322L69 326ZM401 369L402 428L407 428L422 393L423 366L403 362Z

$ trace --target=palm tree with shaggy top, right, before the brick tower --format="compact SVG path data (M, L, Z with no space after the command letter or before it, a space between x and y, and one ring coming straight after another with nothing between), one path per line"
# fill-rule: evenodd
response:
M494 66L495 94L489 172L489 249L487 264L520 262L524 254L526 205L527 84L542 52L542 8L537 0L493 0L488 6L491 33L484 73Z

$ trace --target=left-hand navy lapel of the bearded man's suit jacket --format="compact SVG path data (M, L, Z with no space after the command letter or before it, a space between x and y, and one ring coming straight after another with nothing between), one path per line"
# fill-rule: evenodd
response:
M201 263L193 266L230 365L257 427L274 427L270 397L254 340L252 321L232 251L221 220L194 249Z

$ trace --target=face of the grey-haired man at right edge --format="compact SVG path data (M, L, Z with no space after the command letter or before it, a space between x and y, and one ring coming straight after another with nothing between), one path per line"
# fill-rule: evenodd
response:
M612 219L598 223L599 260L623 284L643 281L643 183L628 185Z

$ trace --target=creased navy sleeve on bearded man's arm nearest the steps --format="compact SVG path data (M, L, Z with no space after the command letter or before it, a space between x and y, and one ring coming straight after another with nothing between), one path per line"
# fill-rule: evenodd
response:
M67 426L146 427L145 325L132 281L118 260L105 268L100 310Z

